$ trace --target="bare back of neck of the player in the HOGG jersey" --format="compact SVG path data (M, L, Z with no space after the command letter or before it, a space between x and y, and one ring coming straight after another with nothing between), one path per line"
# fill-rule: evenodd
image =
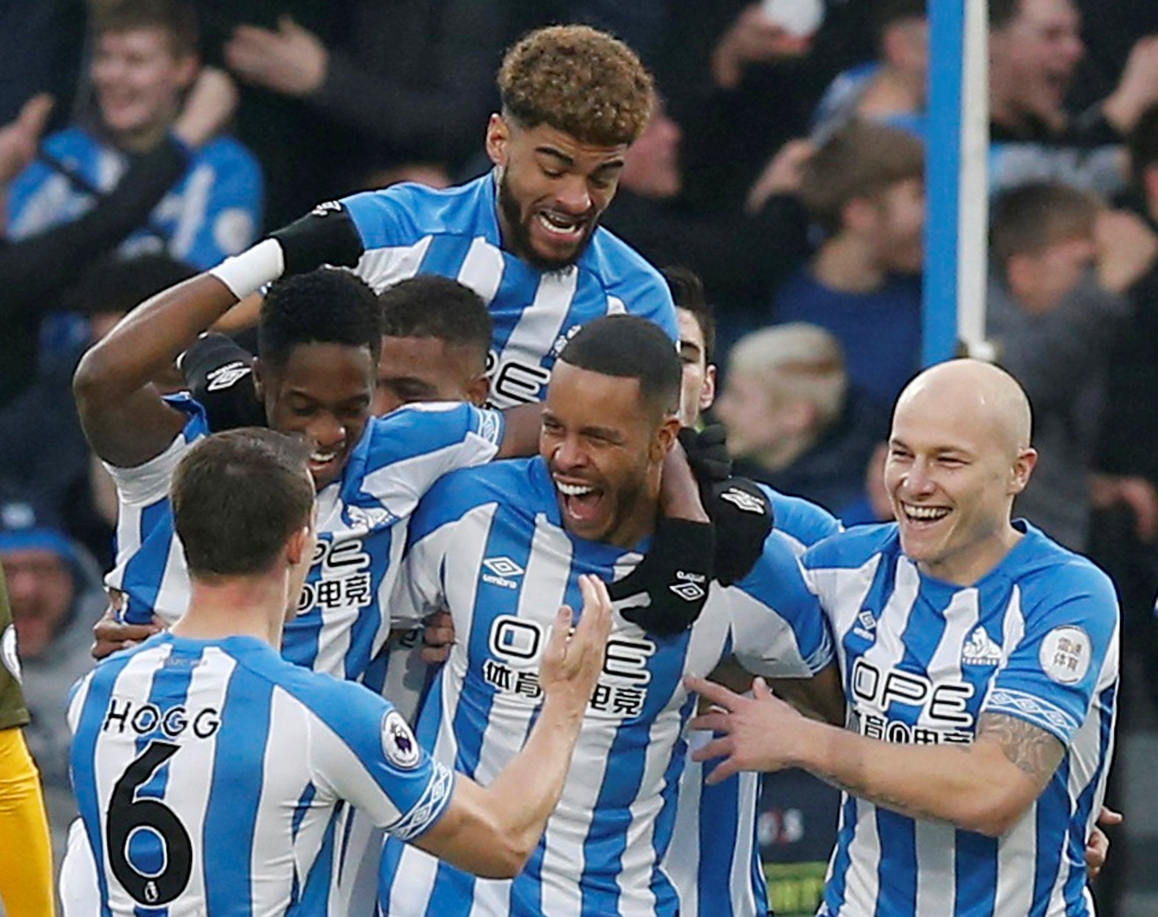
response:
M287 577L276 574L193 579L189 610L173 633L195 640L256 637L280 648L287 587Z

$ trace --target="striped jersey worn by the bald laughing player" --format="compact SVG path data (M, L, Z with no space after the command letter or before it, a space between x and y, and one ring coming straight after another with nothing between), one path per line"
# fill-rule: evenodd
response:
M850 728L973 741L979 717L1046 729L1065 756L999 838L845 795L821 915L1092 917L1085 841L1101 807L1117 696L1117 601L1100 570L1038 529L974 586L922 574L895 523L801 558L833 629Z

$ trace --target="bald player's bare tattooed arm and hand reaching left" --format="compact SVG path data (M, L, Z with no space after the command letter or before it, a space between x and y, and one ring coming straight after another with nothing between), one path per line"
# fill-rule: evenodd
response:
M893 744L809 720L761 678L753 698L699 678L689 687L717 707L694 728L724 733L696 753L726 756L710 783L740 770L802 768L878 806L990 837L1041 795L1064 751L1053 734L1005 713L983 713L969 746Z

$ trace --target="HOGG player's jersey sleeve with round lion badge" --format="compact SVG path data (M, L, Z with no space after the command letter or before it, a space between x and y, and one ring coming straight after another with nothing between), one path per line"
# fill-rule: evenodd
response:
M352 682L329 680L309 718L313 780L402 841L428 831L454 794L454 773L434 761L402 714Z

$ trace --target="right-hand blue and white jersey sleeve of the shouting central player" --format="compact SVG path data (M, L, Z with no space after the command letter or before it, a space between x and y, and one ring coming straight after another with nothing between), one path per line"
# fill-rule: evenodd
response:
M760 560L726 592L732 650L754 675L811 677L833 661L833 639L787 538L772 531Z

